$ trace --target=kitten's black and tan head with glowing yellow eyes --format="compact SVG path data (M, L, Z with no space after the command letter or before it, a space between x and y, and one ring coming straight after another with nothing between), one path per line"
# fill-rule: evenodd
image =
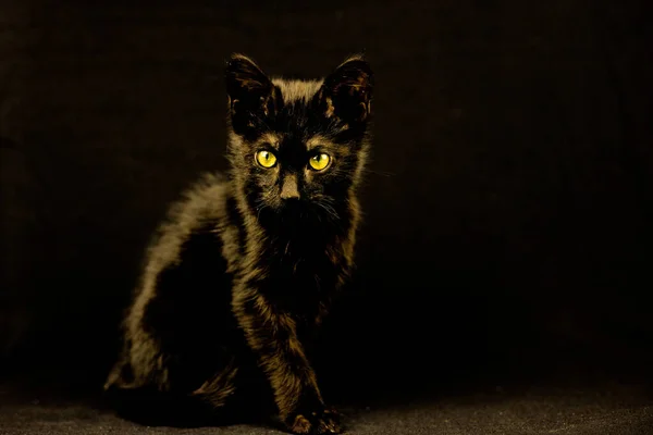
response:
M249 58L226 65L229 156L255 213L337 214L366 162L372 71L352 57L323 79L268 77Z

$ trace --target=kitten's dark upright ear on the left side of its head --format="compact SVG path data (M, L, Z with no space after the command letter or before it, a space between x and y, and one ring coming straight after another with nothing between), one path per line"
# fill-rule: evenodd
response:
M225 69L232 126L238 134L256 128L276 110L275 88L249 58L232 54Z

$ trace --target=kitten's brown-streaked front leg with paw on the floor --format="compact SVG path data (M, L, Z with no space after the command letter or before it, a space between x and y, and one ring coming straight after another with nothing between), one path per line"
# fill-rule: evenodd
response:
M234 291L233 307L286 427L295 434L343 433L337 413L324 406L292 316L276 311L256 290Z

